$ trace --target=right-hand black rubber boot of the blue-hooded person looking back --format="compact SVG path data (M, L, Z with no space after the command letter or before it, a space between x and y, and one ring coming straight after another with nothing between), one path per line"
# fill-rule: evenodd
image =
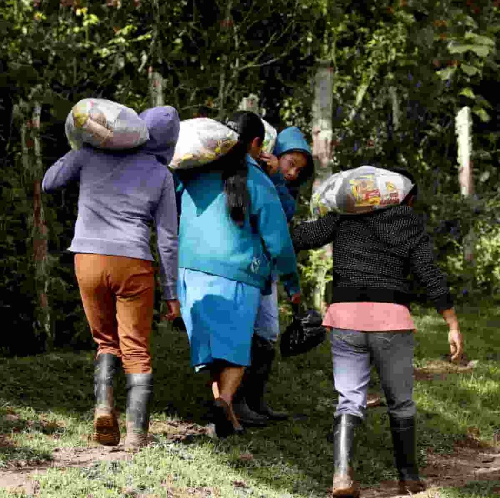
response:
M276 352L274 343L253 334L251 346L251 365L247 367L244 383L245 400L248 407L269 420L286 420L287 413L276 412L264 400L265 388L269 379L272 362Z

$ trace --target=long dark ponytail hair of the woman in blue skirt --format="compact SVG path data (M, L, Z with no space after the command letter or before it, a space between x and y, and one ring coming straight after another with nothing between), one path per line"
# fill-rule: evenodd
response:
M239 227L242 227L249 205L246 187L248 174L246 153L255 138L264 140L264 125L256 114L243 111L226 119L225 125L238 133L239 138L238 143L229 153L220 158L219 166L222 169L222 182L229 216Z

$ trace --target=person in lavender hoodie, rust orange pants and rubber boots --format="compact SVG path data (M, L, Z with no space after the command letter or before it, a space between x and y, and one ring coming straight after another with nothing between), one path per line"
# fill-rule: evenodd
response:
M126 449L147 443L153 373L149 338L154 271L150 223L156 225L163 299L173 320L179 314L177 213L170 161L179 133L173 107L149 109L140 118L145 145L125 151L84 146L53 164L42 182L53 192L79 182L78 216L69 251L83 309L97 344L94 373L94 440L114 446L120 432L113 377L121 362L127 383Z

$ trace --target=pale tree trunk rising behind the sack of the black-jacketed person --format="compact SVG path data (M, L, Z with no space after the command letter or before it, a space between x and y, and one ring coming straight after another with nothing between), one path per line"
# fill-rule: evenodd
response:
M322 64L315 78L314 102L312 107L312 156L314 158L315 178L313 193L332 173L332 111L333 111L333 68ZM326 272L331 264L331 244L326 246L324 265L318 271L316 286L312 293L312 302L318 310L324 310Z

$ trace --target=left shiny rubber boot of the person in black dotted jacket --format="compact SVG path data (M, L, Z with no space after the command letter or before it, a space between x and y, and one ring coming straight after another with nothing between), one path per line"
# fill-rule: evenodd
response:
M333 424L332 496L359 497L359 488L353 478L352 454L355 429L360 423L359 417L350 414L335 417Z

